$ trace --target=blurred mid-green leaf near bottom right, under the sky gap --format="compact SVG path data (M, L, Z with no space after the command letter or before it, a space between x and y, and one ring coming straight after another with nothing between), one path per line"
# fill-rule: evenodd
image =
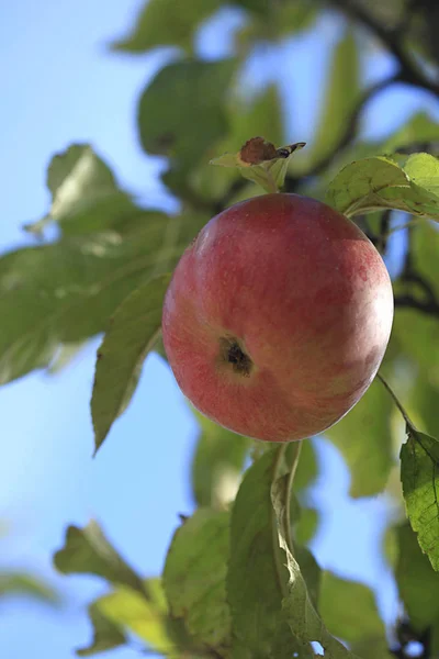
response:
M318 610L329 632L348 643L385 639L374 594L363 583L341 579L325 570L322 572Z

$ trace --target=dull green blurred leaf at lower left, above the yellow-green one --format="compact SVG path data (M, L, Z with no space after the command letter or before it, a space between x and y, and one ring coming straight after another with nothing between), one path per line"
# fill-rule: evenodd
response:
M95 574L145 596L142 579L117 554L97 522L83 528L69 526L64 547L54 555L54 565L64 574Z

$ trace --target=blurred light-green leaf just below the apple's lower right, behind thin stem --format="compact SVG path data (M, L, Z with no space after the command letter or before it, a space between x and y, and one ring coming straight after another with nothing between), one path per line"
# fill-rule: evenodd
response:
M382 492L393 465L392 401L373 382L357 405L325 435L341 451L351 474L350 495Z

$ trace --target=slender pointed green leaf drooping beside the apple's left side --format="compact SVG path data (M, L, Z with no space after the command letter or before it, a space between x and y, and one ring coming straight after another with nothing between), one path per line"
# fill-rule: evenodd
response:
M116 309L98 350L91 412L95 450L114 421L126 410L143 362L161 328L164 298L170 275L133 291Z

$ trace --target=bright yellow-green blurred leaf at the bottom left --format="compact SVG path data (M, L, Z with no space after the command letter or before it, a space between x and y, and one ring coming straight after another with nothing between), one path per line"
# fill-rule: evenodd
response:
M147 590L148 581L145 583ZM95 604L105 618L135 634L157 652L177 656L177 648L168 630L166 602L145 599L138 591L119 587L100 597Z

